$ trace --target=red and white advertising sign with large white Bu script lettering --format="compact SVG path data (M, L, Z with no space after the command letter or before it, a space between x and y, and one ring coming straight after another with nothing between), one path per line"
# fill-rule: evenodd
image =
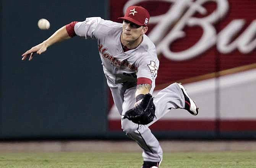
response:
M227 95L241 95L230 102L250 105L256 84L256 3L254 0L110 0L110 19L120 22L128 6L140 5L151 17L147 36L156 45L160 61L156 92L172 82L183 82L199 100L198 118L175 110L153 124L152 130L236 131L230 124L243 119L242 130L256 130L256 115L226 108ZM255 76L254 76L255 75ZM226 82L230 80L230 82ZM243 81L248 86L243 85ZM255 85L254 85L255 86ZM255 90L255 89L254 89ZM238 93L239 92L239 93ZM191 95L191 97L192 97ZM235 94L234 94L235 95ZM228 97L227 97L228 98ZM211 101L209 103L209 101ZM249 103L249 104L248 104ZM120 115L109 101L109 128L120 130ZM207 109L210 108L210 109ZM199 111L200 112L200 111ZM116 113L116 114L115 114ZM231 115L232 113L233 115ZM199 123L188 127L186 123ZM218 124L216 124L219 123ZM169 123L169 124L167 124ZM254 123L254 124L251 124ZM169 126L172 125L172 126ZM181 126L182 125L182 126ZM254 126L252 126L254 125Z

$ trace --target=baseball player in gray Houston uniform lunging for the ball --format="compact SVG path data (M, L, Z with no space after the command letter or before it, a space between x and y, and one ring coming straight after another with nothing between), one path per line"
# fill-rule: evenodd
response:
M58 29L47 40L23 53L22 60L34 53L42 54L47 47L74 36L96 39L107 84L120 113L138 105L145 94L152 94L155 87L159 60L155 45L145 35L148 30L149 13L141 6L129 6L123 23L104 20L100 17L86 18L83 22L71 22ZM185 88L178 83L161 90L153 101L156 118L147 124L136 124L128 119L121 120L123 131L143 149L142 168L159 167L163 152L149 126L159 120L170 109L184 108L192 115L198 114L196 104Z

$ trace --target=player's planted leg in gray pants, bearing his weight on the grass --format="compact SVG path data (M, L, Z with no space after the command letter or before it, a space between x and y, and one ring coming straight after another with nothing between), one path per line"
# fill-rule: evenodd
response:
M124 95L123 114L134 107L136 87L127 89ZM143 149L144 162L155 162L158 164L162 160L162 149L156 137L146 125L135 124L125 119L121 121L122 129L126 135L136 141Z

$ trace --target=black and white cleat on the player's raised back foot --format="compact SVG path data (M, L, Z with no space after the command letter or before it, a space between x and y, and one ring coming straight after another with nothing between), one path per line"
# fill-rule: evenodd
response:
M186 89L181 85L181 83L177 83L180 87L184 98L185 98L185 110L190 112L192 115L198 115L198 107L196 106L196 103L188 96L188 93L186 92Z

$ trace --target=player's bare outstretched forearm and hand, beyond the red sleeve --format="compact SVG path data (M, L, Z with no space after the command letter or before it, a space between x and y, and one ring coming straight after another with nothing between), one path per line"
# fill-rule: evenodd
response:
M29 57L29 61L33 59L34 53L41 54L47 50L47 47L57 43L61 42L66 39L70 39L71 37L68 35L68 32L66 31L65 26L58 29L55 33L52 34L47 40L44 42L32 47L25 53L23 53L22 60L26 60L27 57Z

